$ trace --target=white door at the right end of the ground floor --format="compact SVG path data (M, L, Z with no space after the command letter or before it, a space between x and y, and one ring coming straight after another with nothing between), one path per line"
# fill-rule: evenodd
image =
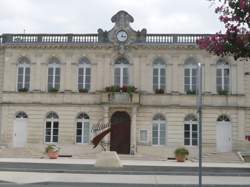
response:
M221 121L217 123L216 150L217 152L232 151L232 129L230 122Z

